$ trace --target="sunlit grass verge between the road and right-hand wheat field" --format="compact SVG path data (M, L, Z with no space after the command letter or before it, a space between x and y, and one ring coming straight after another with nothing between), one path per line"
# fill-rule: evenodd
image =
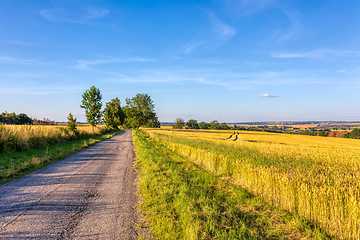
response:
M133 131L139 192L154 239L330 239L230 181L212 175L144 132ZM143 239L144 237L140 237Z

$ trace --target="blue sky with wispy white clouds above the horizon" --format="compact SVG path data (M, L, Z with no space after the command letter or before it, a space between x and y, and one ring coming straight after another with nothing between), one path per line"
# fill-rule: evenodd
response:
M160 121L360 120L358 0L1 0L0 112L84 121L148 93Z

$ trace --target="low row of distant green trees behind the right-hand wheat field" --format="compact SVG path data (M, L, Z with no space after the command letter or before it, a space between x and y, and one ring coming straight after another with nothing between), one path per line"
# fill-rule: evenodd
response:
M225 123L219 123L217 120L213 120L210 123L200 122L198 123L195 119L190 119L185 123L184 119L177 118L173 128L175 129L218 129L218 130L229 130L230 127Z

